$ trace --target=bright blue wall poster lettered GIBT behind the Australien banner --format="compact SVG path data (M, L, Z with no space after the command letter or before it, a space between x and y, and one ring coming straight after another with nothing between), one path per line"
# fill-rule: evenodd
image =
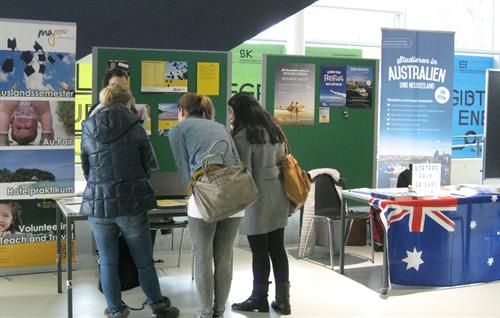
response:
M484 133L486 70L493 68L493 57L455 56L453 85L453 158L481 158L474 135ZM469 137L466 137L469 136Z

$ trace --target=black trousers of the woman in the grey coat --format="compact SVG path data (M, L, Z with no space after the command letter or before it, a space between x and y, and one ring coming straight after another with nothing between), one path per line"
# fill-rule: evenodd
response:
M273 263L275 283L288 282L288 258L285 251L285 229L280 228L269 233L248 235L252 250L252 271L255 283L267 284L271 271L269 257Z

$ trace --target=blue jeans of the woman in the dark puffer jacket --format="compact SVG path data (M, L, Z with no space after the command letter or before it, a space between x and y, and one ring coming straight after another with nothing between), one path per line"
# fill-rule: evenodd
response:
M151 232L146 213L112 218L89 217L99 250L101 285L108 308L113 314L123 310L118 276L118 235L121 232L139 272L141 288L149 304L163 302L153 262Z

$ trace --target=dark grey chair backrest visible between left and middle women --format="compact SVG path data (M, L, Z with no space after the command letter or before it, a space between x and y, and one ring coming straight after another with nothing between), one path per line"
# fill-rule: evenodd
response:
M158 199L181 199L187 196L187 188L177 171L152 171L149 182Z

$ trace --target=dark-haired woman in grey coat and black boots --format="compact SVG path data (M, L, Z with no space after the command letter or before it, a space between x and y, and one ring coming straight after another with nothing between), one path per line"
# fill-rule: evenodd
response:
M285 226L292 210L284 185L281 159L285 136L259 102L248 93L238 93L228 101L233 138L259 190L259 199L246 209L240 233L246 234L252 250L253 291L234 310L268 312L270 261L276 283L276 300L271 306L289 315L290 282L284 247Z

